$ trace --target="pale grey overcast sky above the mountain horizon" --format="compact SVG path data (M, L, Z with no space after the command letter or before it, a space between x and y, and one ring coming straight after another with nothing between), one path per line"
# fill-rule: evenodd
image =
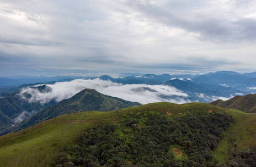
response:
M256 1L0 1L0 76L256 71Z

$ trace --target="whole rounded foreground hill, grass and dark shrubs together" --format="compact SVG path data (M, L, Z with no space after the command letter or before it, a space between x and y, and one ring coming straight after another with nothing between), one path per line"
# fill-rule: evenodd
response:
M236 150L251 149L255 138L256 114L205 103L151 103L61 115L1 136L0 166L72 166L71 161L97 166L98 154L111 157L96 157L109 166L145 166L152 160L148 166L213 166L227 162Z

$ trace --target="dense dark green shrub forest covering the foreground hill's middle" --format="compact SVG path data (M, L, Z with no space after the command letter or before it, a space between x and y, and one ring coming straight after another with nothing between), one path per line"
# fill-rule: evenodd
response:
M211 151L232 121L230 115L205 111L178 115L129 113L84 131L76 145L67 144L56 155L54 165L225 166L212 158ZM236 154L230 165L238 164L238 159L242 161L243 156Z

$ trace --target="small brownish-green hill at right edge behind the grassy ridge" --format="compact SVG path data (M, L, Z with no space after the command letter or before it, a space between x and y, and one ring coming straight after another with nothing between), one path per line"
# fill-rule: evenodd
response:
M212 105L218 107L237 109L246 113L256 113L256 94L247 94L246 96L236 96L227 101L218 99L211 102Z

